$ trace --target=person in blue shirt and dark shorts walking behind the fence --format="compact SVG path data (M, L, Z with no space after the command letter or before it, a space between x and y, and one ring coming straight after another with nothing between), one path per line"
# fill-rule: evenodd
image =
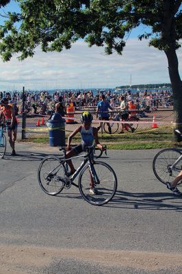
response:
M105 99L105 95L101 95L101 101L97 104L96 113L99 116L99 120L109 121L109 110L113 110L109 102ZM102 122L100 122L99 127L97 130L101 128ZM107 123L109 134L112 134L112 128L110 127L109 123Z

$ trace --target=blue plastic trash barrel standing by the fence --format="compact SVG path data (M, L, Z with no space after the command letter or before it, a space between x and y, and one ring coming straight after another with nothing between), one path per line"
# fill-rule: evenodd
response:
M50 147L65 147L65 120L59 113L53 114L51 119L47 121L49 127L49 146Z

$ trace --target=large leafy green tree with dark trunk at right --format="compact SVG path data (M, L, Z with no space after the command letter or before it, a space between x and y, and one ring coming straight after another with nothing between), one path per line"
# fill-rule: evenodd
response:
M14 53L19 60L42 51L70 49L85 39L88 45L105 47L106 54L122 54L126 37L139 25L151 31L139 35L166 53L174 94L174 121L182 123L182 82L177 49L181 47L181 0L16 0L21 12L8 14L0 29L0 54L8 61ZM8 2L8 1L3 1Z

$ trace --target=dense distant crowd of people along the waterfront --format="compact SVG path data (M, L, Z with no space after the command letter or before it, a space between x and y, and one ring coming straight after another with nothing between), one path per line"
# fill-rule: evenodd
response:
M50 102L57 103L60 98L65 106L72 104L75 108L82 110L84 107L96 106L101 101L101 96L105 95L105 100L109 102L111 108L120 105L120 95L124 97L126 102L134 101L138 110L157 110L159 106L168 108L172 105L172 91L171 90L156 90L156 91L136 91L122 90L56 90L51 93L47 90L41 92L24 92L24 100L27 104L33 105L36 110L36 104L42 103L46 105L46 110L49 110ZM0 99L7 98L12 105L21 104L23 101L23 92L0 92Z

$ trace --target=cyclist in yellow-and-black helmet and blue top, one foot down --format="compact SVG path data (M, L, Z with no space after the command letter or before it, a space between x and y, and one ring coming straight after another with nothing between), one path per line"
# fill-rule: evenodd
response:
M92 114L88 111L85 111L81 114L80 120L82 125L79 126L77 129L75 129L74 132L70 134L70 136L68 137L68 143L66 147L66 151L67 151L66 158L71 158L75 155L78 155L82 151L85 151L86 147L90 147L93 144L93 141L95 141L97 147L99 147L101 151L105 151L105 148L99 142L98 130L96 129L96 127L92 127L92 120L93 120ZM81 134L81 143L77 145L76 147L73 147L73 149L71 149L70 148L71 140L78 132ZM68 162L68 165L70 166L69 175L72 175L73 173L75 173L76 169L73 166L73 162L71 160L68 160L67 162ZM96 188L94 188L94 182L91 175L90 175L90 181L91 181L90 194L91 195L99 194Z

